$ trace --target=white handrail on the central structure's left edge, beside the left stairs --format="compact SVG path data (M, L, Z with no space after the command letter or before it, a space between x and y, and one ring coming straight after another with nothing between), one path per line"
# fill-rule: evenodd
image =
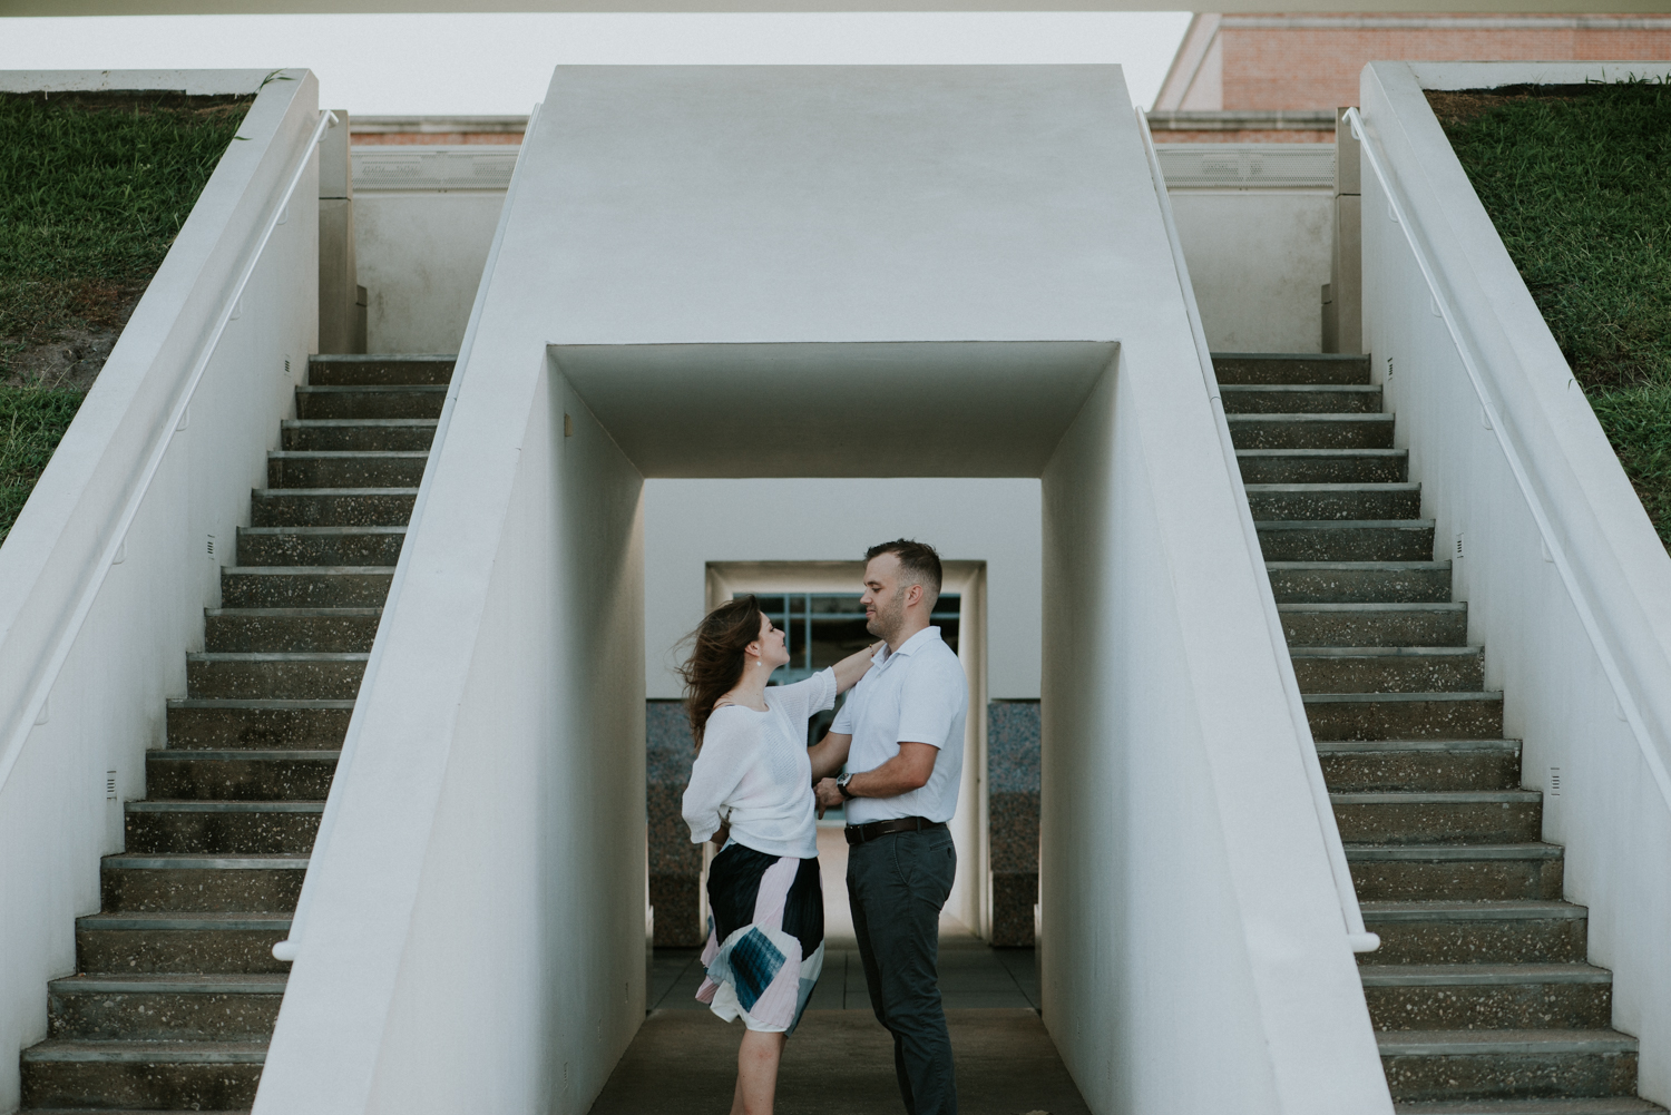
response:
M540 122L540 105L533 107L528 114L526 135L533 135L535 124ZM493 229L493 242L488 246L488 257L481 264L481 283L476 284L476 299L470 308L470 321L465 326L465 339L458 346L458 358L455 359L455 374L446 386L446 401L441 405L441 416L434 425L434 436L429 440L429 460L424 461L423 476L418 481L418 496L413 500L413 512L406 518L406 538L411 540L418 533L418 523L423 520L424 507L429 501L429 470L436 466L439 458L441 443L446 440L446 428L453 421L453 406L458 403L458 393L463 386L463 376L458 374L468 363L470 353L476 344L476 328L481 324L481 311L488 301L488 279L493 276L493 264L500 257L500 247L505 244L505 229L510 224L511 216L511 199L516 197L518 174L523 169L523 152L528 150L528 144L523 142L516 150L516 164L511 167L510 186L505 187L505 204L500 206L500 219ZM394 565L394 575L389 578L389 592L383 602L383 615L388 617L394 612L394 602L399 598L401 587L406 583L406 570L409 568L413 547L401 547L401 557ZM381 635L381 629L379 629ZM368 692L378 677L378 670L383 667L383 649L384 640L374 639L371 642L371 654L366 657L366 669L359 679L359 692ZM338 752L336 774L331 779L333 789L344 784L344 774L354 764L354 756L359 754L359 702L354 704L354 715L348 722L348 734L343 737L343 751ZM307 914L312 909L312 861L324 856L331 844L331 836L336 832L336 817L339 809L339 801L334 794L326 796L324 814L319 817L319 831L314 834L312 851L309 853L309 869L302 876L302 891L296 898L296 911L291 914L291 928L284 934L282 941L272 944L272 958L294 961L301 955L302 948L302 929L307 924Z

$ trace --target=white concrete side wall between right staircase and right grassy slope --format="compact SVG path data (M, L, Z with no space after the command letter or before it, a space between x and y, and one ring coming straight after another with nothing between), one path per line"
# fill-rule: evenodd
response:
M1589 906L1589 956L1616 973L1614 1025L1641 1040L1641 1093L1666 1102L1671 558L1424 95L1644 69L1377 62L1352 125L1365 348L1566 894Z

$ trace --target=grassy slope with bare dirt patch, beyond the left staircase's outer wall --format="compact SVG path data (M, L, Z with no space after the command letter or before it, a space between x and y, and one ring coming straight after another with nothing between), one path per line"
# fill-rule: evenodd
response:
M144 293L249 99L0 94L0 376L70 328L115 328ZM0 540L80 395L0 384Z

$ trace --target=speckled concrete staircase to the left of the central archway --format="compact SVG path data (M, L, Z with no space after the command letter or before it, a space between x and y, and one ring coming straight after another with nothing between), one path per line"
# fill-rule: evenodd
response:
M249 1108L307 869L451 356L316 356L127 802L23 1110Z

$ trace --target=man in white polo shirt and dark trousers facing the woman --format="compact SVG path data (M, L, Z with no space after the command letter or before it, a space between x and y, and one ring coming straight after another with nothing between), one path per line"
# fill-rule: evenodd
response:
M877 1021L894 1035L907 1115L956 1115L951 1038L939 996L939 913L957 874L946 822L957 811L969 682L929 614L941 563L921 542L864 555L864 614L886 647L847 695L814 771L819 811L846 802L847 896ZM822 752L822 754L820 754Z

